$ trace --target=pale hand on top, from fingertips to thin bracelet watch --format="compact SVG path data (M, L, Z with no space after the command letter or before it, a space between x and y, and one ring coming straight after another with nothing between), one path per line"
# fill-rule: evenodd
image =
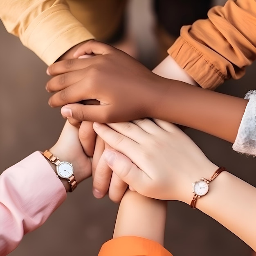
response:
M211 177L218 166L180 128L154 121L94 123L95 132L113 148L102 157L138 193L190 204L192 183Z

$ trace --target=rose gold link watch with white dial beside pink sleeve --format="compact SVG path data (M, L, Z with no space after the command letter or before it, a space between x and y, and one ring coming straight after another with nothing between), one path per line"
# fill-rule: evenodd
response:
M48 150L45 150L43 156L56 165L57 176L62 179L67 179L67 182L70 184L70 192L72 192L77 187L72 164L61 161Z

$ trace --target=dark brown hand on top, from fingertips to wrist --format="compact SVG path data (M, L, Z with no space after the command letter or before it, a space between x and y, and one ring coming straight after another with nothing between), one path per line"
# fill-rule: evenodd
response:
M91 58L77 58L92 53L95 56ZM164 78L110 45L92 40L83 44L74 57L48 68L48 74L54 77L46 88L56 92L49 105L76 103L62 108L65 117L103 123L151 117L168 90L161 83ZM90 99L98 100L100 105L77 103Z

